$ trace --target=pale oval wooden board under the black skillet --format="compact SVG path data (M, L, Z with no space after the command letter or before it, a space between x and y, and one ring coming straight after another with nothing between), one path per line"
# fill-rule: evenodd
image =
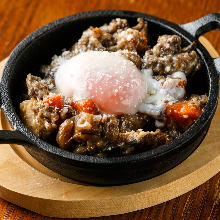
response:
M213 57L210 43L201 42ZM0 64L0 72L5 61ZM1 126L10 129L1 112ZM116 215L154 206L201 185L220 171L220 106L199 148L172 170L139 183L93 186L62 177L22 146L0 147L0 197L42 215L81 218Z

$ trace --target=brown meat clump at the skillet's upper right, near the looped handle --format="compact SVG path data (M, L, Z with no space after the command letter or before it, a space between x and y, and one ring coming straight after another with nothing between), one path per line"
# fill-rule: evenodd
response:
M152 68L157 74L172 74L177 71L189 75L199 70L200 61L192 50L194 43L181 49L181 38L177 35L163 35L153 49L146 51L143 68Z

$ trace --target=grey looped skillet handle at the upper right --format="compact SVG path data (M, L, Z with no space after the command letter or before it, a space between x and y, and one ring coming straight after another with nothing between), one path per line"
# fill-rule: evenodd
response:
M220 13L208 14L198 20L182 24L180 27L189 32L194 38L198 38L211 30L220 31ZM220 57L215 58L214 63L220 74Z

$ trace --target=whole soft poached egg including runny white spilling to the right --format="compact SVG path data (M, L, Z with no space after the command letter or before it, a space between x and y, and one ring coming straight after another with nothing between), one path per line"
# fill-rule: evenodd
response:
M143 112L159 118L167 104L185 96L186 76L176 72L157 80L151 69L139 70L119 52L88 51L64 60L55 85L65 97L92 99L103 113Z

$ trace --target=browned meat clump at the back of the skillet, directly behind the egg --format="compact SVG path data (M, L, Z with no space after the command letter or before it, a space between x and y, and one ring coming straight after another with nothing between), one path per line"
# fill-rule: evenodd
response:
M108 25L90 27L84 31L79 41L73 45L72 51L77 54L88 50L128 50L143 54L148 49L147 42L146 21L139 18L138 24L131 28L125 19L115 19Z

